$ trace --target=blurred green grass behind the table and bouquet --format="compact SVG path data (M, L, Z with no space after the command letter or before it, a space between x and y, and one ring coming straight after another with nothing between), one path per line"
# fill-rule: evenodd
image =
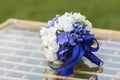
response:
M0 23L8 18L47 22L66 11L80 12L93 27L120 30L120 0L0 0Z

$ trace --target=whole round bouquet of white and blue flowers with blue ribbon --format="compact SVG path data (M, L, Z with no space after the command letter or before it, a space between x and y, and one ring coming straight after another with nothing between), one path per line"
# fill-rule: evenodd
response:
M101 66L103 62L92 52L99 49L94 34L91 34L92 24L80 13L65 13L57 15L48 21L49 26L40 30L42 52L49 62L63 66L51 69L61 76L73 74L74 66L82 57Z

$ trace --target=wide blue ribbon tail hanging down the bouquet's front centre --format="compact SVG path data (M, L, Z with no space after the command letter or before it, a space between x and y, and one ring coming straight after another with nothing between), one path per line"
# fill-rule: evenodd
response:
M73 59L73 57L74 57L74 60L70 60L70 62L67 64L67 66L64 68L64 70L61 72L61 75L69 76L69 75L73 74L74 65L77 64L81 60L83 55L84 55L84 50L82 49L82 46L81 45L76 46L73 49L72 58L71 58L71 59Z

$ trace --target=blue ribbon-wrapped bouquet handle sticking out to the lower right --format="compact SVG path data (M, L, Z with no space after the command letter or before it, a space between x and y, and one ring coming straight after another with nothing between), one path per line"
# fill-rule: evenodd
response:
M103 65L103 61L100 60L97 56L95 56L93 53L91 52L87 52L84 55L86 58L88 58L91 62L95 63L98 66L102 66Z

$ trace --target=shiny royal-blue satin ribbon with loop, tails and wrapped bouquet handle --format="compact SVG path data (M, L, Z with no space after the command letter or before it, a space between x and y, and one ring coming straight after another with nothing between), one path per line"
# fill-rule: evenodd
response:
M85 40L84 40L85 41ZM97 46L95 48L91 47L92 44L96 43ZM60 72L61 76L69 76L73 74L73 67L77 64L81 58L84 56L88 58L91 62L95 63L98 66L101 66L103 62L96 57L92 52L96 52L99 49L99 44L97 40L93 37L89 37L86 39L85 43L77 44L73 46L73 52L69 62L63 68L54 68L50 66L53 70Z

